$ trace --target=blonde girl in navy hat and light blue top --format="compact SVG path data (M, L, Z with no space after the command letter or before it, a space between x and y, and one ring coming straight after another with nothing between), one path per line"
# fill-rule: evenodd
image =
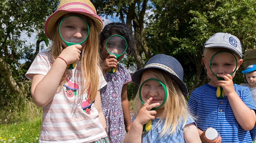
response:
M144 84L150 79L161 81L165 85L166 101L157 108L165 100L160 82L156 86L160 90L145 90L146 93L141 94L141 98L146 100L144 105L141 103L139 90L134 99L135 115L124 143L201 143L195 121L187 108L185 97L188 91L182 82L183 68L179 61L168 55L155 55L144 68L132 75L132 81L139 87L142 84L153 89L155 87L151 83ZM144 125L150 120L151 128L145 131Z

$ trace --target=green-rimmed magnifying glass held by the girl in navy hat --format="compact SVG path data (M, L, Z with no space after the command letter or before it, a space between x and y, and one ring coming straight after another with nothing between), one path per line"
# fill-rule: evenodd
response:
M152 108L151 110L156 110L163 106L167 99L167 88L160 80L155 78L150 78L142 82L139 88L139 97L141 103L144 105L148 98L147 94L159 94L156 96L156 100L152 100L151 103L160 103L159 106ZM149 132L151 129L151 120L143 126L143 132Z

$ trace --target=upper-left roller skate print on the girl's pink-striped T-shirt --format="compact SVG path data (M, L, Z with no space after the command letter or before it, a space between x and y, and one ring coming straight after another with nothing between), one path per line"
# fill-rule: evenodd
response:
M67 97L73 97L77 95L77 90L79 86L73 82L73 79L69 75L65 76L66 82L63 84L64 87L66 87L66 95Z

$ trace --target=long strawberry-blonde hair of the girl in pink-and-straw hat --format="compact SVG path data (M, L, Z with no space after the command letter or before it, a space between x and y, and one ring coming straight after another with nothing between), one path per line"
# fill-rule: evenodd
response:
M59 27L60 21L61 18L56 22L55 27ZM87 44L82 48L83 50L80 56L82 82L84 83L84 85L82 85L81 93L79 95L84 94L90 87L90 93L88 96L90 97L90 100L93 101L96 98L99 84L99 39L95 23L92 22L92 19L86 16L86 22L89 25L90 32L87 38ZM52 60L55 61L57 56L59 56L63 50L58 28L55 28L52 37L53 38L50 46L50 53L52 56ZM64 77L65 75L63 75L63 78ZM59 89L62 88L64 81L65 79L61 81Z

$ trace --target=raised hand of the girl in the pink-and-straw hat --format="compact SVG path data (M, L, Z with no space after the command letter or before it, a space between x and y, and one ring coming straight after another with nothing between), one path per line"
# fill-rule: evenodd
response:
M72 64L80 59L80 53L82 46L80 44L75 44L67 46L61 53L60 57L65 59L69 64Z

